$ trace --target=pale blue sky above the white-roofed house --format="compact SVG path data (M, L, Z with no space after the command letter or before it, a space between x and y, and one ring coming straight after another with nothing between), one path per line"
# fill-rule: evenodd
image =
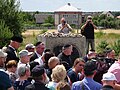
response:
M22 11L54 12L71 3L83 12L120 11L120 0L19 0Z

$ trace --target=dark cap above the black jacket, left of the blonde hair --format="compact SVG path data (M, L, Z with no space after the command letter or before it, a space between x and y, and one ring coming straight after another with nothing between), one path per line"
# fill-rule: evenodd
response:
M43 66L37 65L32 69L32 77L39 77L45 73Z

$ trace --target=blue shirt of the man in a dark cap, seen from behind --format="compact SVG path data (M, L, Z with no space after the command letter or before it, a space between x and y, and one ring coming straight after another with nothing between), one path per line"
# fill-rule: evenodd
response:
M102 85L96 81L93 80L93 78L87 78L85 77L82 80L84 90L100 90L102 88ZM81 81L77 81L73 83L71 90L82 90Z

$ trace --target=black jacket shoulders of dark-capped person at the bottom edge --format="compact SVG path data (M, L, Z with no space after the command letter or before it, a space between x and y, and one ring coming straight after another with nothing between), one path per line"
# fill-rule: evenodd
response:
M26 86L25 90L49 90L49 88L45 87L45 84L41 82L35 82L34 84Z

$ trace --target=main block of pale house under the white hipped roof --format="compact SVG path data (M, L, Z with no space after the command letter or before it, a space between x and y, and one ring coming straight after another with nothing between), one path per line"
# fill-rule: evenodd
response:
M55 10L54 14L56 26L60 24L60 20L62 17L64 17L66 19L66 22L69 24L80 26L80 24L82 23L81 10L72 6L70 3Z

